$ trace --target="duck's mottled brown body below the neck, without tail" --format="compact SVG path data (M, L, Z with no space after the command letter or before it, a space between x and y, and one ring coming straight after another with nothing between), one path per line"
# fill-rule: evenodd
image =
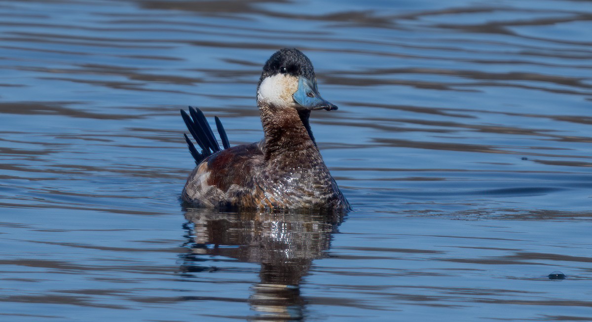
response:
M262 146L244 144L207 157L189 175L183 199L217 208L349 210L322 159L265 160Z

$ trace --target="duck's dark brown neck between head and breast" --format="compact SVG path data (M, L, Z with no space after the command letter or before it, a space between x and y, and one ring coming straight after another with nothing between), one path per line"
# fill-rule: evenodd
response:
M320 157L308 124L310 112L267 104L259 104L259 111L265 131L266 160L284 157L298 162L304 157Z

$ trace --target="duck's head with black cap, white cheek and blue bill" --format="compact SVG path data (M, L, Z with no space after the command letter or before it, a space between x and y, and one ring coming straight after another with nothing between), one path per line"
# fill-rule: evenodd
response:
M257 88L259 104L298 111L337 110L318 94L313 64L294 48L276 51L263 66Z

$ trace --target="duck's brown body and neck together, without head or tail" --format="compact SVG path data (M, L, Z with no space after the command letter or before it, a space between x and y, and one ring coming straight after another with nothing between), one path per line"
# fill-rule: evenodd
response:
M349 211L298 112L266 110L265 139L207 157L189 175L183 199L207 207Z

